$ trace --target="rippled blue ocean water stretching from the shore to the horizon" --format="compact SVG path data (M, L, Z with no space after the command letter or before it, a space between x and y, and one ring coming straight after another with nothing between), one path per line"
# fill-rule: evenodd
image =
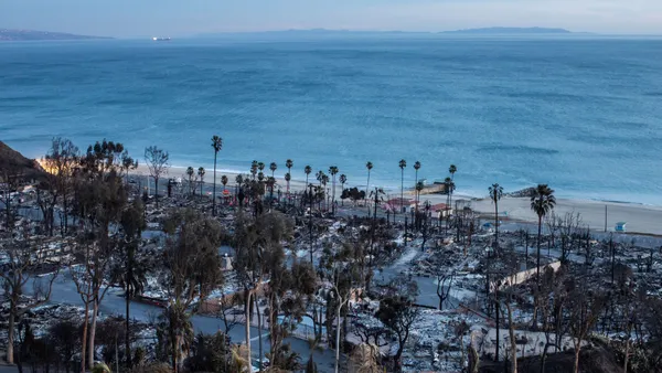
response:
M402 38L0 44L0 140L122 141L174 166L295 161L399 186L458 167L458 191L549 183L560 196L662 204L662 41Z

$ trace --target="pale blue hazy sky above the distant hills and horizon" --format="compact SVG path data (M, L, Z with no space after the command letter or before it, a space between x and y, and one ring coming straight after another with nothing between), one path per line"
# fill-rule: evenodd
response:
M0 0L0 28L116 38L483 26L662 34L662 0Z

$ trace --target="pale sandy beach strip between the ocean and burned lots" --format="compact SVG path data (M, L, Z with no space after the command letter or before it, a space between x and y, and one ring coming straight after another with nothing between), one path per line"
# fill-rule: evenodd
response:
M221 168L221 167L220 167ZM186 179L185 175L186 169L184 168L170 168L168 170L168 175L163 177L163 180L169 178L182 178L182 180ZM213 179L213 170L205 170L204 181L205 183L211 183ZM281 191L286 191L286 181L282 178L279 178L278 174L284 174L286 170L278 169L276 171L276 182L277 185L280 186ZM132 171L134 174L149 174L149 171L145 164L139 166L136 171ZM228 178L228 186L235 185L235 178L238 173L228 173L228 172L216 172L216 181L221 183L221 177L226 175ZM244 174L247 174L244 173ZM265 174L269 175L270 172L265 172ZM314 174L310 174L310 182L317 183L314 179ZM305 180L291 180L290 181L290 190L291 191L301 191L306 186ZM353 186L352 183L346 184L345 186ZM373 185L374 186L374 185ZM331 188L331 183L328 184L328 188ZM361 188L365 188L364 184L361 184ZM161 183L159 189L164 192L166 183ZM386 191L388 198L398 198L399 190L391 190ZM335 185L335 196L340 198L342 193L342 188L340 183L337 181ZM405 191L405 195L413 198L413 192ZM445 203L446 195L441 194L423 194L420 196L421 203L426 200L430 201L430 203ZM494 205L492 201L484 199L477 199L468 195L462 195L461 193L453 194L453 201L457 200L470 200L471 207L481 213L481 214L492 214L494 212ZM502 216L509 220L537 223L537 216L531 211L531 201L527 198L503 198L499 202L499 211ZM627 232L628 233L642 233L642 234L653 234L653 235L662 235L662 206L651 206L651 205L642 205L636 203L617 203L617 202L602 202L602 201L590 201L590 200L575 200L575 199L557 199L556 207L554 212L558 215L564 215L568 212L575 212L581 214L581 220L585 225L588 225L591 230L602 232L605 230L605 206L607 206L607 231L613 232L616 223L618 222L627 222Z

